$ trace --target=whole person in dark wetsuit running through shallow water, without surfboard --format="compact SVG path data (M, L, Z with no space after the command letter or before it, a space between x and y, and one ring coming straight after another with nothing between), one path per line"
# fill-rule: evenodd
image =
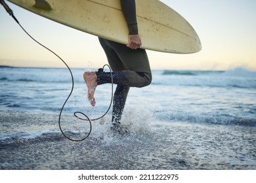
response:
M129 29L128 44L102 38L99 38L99 41L113 71L113 82L117 84L113 99L112 129L121 133L121 116L129 88L148 86L152 81L152 73L146 50L140 48L142 42L138 31L135 0L120 2ZM83 78L87 84L87 97L94 107L96 86L112 83L111 73L98 69L96 72L85 72Z

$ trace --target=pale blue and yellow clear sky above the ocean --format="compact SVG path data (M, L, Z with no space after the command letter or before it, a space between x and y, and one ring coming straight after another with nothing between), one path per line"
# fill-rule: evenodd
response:
M256 71L255 0L161 1L194 27L202 50L195 54L147 50L152 69L223 71L243 67ZM6 2L24 29L70 67L98 68L107 63L97 37ZM60 59L32 41L1 5L0 65L65 67Z

